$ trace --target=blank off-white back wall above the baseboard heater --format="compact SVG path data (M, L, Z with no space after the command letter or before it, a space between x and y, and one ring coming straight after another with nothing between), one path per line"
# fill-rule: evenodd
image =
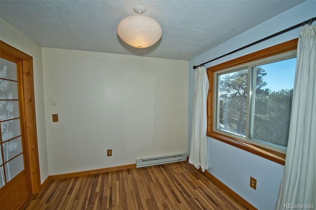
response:
M187 152L188 61L53 48L42 59L49 175Z

